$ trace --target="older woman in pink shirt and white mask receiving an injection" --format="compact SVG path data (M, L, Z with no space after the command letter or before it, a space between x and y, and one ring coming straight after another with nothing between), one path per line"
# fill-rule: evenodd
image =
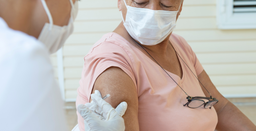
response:
M256 130L217 91L186 40L172 34L182 4L118 0L123 21L84 57L76 104L90 102L95 90L111 94L106 101L113 107L126 101L127 131Z

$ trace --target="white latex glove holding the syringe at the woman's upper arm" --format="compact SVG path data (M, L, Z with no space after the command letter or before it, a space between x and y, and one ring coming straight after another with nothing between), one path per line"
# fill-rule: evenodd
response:
M115 111L115 109L100 96L96 94L91 94L91 99L93 99L93 104L96 105L95 112L91 111L86 105L78 105L77 111L84 118L85 127L88 128L88 131L124 131L125 123L124 119ZM122 102L124 105L127 103ZM119 104L117 107L122 108L122 104ZM126 111L125 108L125 111ZM102 110L102 112L101 112ZM124 109L123 109L124 110ZM124 111L124 112L125 112ZM100 119L96 114L102 116L105 120ZM105 114L105 115L103 115Z

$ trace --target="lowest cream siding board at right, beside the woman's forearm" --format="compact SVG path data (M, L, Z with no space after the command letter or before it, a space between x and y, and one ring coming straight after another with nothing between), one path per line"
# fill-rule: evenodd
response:
M230 86L216 87L221 94L256 94L256 85L254 86Z

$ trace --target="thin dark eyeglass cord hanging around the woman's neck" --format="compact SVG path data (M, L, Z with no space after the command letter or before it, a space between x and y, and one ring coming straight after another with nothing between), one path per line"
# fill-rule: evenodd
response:
M133 39L134 40L134 39ZM139 44L136 40L134 40L137 44ZM169 40L169 44L172 46L172 44L171 44L171 42L170 42L170 40ZM140 45L140 44L139 44ZM141 46L141 45L140 45ZM141 48L142 49L144 49L142 46L141 46ZM175 49L174 49L174 47L172 46L172 48L173 48L173 50L175 51ZM145 49L144 49L145 50ZM145 50L146 51L146 50ZM147 51L146 51L147 52ZM175 51L176 52L176 51ZM177 52L176 52L177 53ZM147 54L148 55L150 55L148 52L147 52ZM178 53L177 53L178 54ZM178 54L179 55L179 54ZM150 55L151 56L151 55ZM181 56L179 55L179 57L181 58ZM152 56L151 56L151 58L152 59L154 59ZM181 58L182 59L182 58ZM154 59L155 60L155 59ZM156 60L155 60L156 61ZM182 59L182 61L186 64L186 62ZM156 61L156 63L160 66L160 64ZM188 67L188 65L186 64L186 66ZM161 66L160 66L161 67ZM162 67L161 67L162 68ZM163 68L162 68L163 69ZM191 71L191 69L188 67L188 69ZM163 69L163 71L165 71L165 69ZM165 71L166 72L166 71ZM191 71L192 73L193 73L193 71ZM166 72L166 74L168 75L168 76L170 76L167 72ZM194 73L193 73L194 74ZM196 77L196 75L194 74L194 76ZM170 76L171 77L171 76ZM171 77L172 78L172 77ZM197 78L197 77L196 77ZM180 85L172 78L172 80L180 87ZM197 78L197 80L200 82L200 80ZM201 83L201 82L200 82ZM203 86L203 84L201 83L201 85ZM204 86L203 86L204 87ZM181 87L180 87L181 88ZM208 90L204 87L204 89L208 92ZM181 90L183 91L183 92L185 92L182 88L181 88ZM209 93L209 92L208 92ZM185 92L185 94L188 96L188 94ZM212 97L211 96L211 94L209 93L209 95L210 95L210 97Z

